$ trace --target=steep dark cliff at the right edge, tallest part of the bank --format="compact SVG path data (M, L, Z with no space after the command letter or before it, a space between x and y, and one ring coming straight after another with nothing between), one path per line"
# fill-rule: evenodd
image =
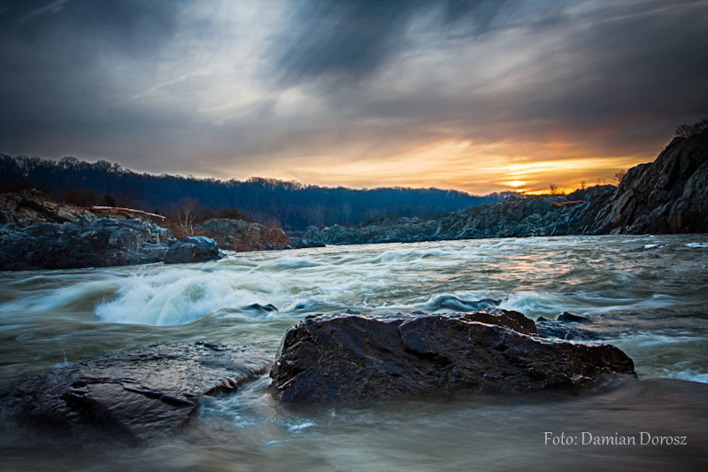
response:
M708 129L673 138L654 162L629 169L599 209L596 232L708 232Z

